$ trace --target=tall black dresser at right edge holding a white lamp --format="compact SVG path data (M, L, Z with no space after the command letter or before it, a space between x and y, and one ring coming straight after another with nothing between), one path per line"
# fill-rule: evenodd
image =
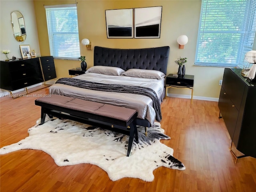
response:
M256 83L225 68L218 107L236 149L256 158Z

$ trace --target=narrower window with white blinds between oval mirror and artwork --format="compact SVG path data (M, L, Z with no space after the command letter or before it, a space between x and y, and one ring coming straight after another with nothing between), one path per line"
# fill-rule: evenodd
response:
M44 7L51 55L54 58L78 59L80 46L76 4Z

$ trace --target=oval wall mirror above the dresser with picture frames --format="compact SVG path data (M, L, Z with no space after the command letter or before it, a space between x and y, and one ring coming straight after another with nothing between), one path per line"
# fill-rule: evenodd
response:
M18 42L23 42L26 39L26 27L24 17L20 12L14 11L11 13L11 18L14 38Z

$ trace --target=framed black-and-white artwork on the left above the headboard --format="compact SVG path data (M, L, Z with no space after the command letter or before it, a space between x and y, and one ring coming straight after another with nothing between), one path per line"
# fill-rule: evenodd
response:
M105 10L107 38L133 38L133 9Z

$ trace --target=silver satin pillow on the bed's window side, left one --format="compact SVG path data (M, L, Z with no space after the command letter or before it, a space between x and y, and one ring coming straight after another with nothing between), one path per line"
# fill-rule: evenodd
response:
M88 70L86 70L85 73L99 73L99 74L105 74L105 75L121 75L124 70L118 67L110 67L110 66L93 66L90 67Z

